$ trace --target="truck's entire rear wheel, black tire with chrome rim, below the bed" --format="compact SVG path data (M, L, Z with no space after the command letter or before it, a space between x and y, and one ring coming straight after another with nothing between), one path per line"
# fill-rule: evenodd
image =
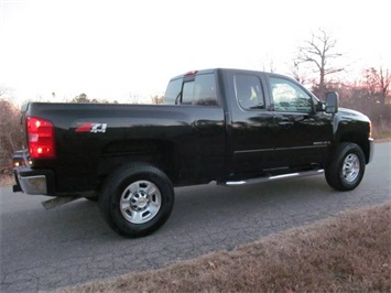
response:
M128 165L110 175L99 195L100 214L119 235L142 237L170 217L174 188L170 178L151 165Z

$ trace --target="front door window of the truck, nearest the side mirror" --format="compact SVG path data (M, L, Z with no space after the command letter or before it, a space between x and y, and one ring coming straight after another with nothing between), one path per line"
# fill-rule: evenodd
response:
M273 105L275 111L311 112L312 97L291 80L271 77Z

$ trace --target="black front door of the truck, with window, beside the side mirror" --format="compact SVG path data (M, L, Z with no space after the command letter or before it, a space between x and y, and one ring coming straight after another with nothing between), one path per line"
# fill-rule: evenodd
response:
M324 162L333 135L330 116L316 112L317 100L295 80L273 74L267 77L275 164L292 167Z

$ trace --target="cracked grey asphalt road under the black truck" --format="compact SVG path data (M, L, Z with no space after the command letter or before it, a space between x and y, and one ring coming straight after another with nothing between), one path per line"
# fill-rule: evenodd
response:
M45 210L44 196L0 187L0 292L50 291L162 268L270 234L391 199L391 142L377 143L361 185L332 189L323 175L224 187L176 188L169 221L155 234L127 239L79 199Z

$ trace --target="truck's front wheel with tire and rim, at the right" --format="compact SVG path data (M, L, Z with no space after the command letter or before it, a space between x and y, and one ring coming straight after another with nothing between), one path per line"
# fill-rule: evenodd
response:
M363 152L356 143L338 145L333 162L326 167L325 176L329 186L337 191L352 191L361 182L366 171Z

